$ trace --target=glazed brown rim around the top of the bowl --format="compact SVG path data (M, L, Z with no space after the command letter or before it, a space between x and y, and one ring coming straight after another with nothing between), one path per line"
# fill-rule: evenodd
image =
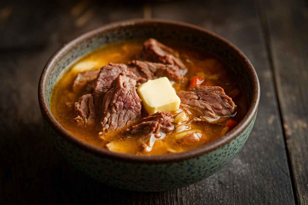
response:
M245 63L247 64L247 67L250 73L250 78L251 78L250 80L252 81L252 86L253 86L252 101L251 101L249 109L246 115L244 116L244 118L237 124L236 127L234 127L225 136L217 140L214 140L213 142L210 142L209 144L205 144L199 148L195 148L187 152L180 152L180 153L170 154L170 155L138 156L138 155L132 155L132 154L124 154L120 152L111 152L107 149L99 148L94 145L88 144L87 142L84 142L80 140L79 138L73 136L71 133L69 133L65 128L63 128L57 122L57 120L51 114L50 109L48 108L47 99L46 99L46 86L47 86L47 79L49 78L51 70L54 68L56 63L61 59L61 57L63 57L63 55L69 52L76 45L82 43L83 41L89 38L92 38L102 32L106 32L108 30L114 30L120 27L132 26L132 25L142 25L142 24L152 24L152 23L179 26L182 28L206 33L207 35L210 35L212 37L217 38L220 41L223 41L225 44L232 47L232 49L235 50L241 56L242 60L244 60ZM125 21L119 21L119 22L113 22L110 24L106 24L94 30L88 31L82 35L79 35L78 37L74 38L73 40L64 44L60 49L58 49L51 56L51 58L49 59L49 61L47 62L47 64L45 65L42 71L42 74L39 79L38 97L39 97L39 105L41 108L41 112L44 115L45 119L48 121L48 123L52 126L52 128L55 129L55 131L60 136L64 137L66 140L70 141L71 143L78 146L79 148L84 149L87 152L91 152L97 156L106 157L109 159L136 162L136 163L159 164L159 163L178 162L178 161L183 161L183 160L187 160L190 158L202 156L204 154L207 154L209 152L212 152L213 150L216 150L224 146L225 144L228 144L230 141L232 141L238 135L240 135L241 132L244 132L245 128L249 126L250 122L253 120L253 117L257 113L257 108L258 108L259 101L260 101L260 84L259 84L259 80L257 77L257 73L255 69L253 68L253 65L251 64L251 62L245 56L245 54L240 49L238 49L235 45L233 45L232 43L227 41L225 38L217 34L214 34L199 26L195 26L192 24L184 23L184 22L177 22L177 21L164 20L164 19L129 19Z

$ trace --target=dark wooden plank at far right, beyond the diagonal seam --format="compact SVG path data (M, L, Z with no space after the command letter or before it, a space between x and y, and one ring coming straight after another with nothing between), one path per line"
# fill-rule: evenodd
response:
M308 204L308 4L261 1L298 204Z

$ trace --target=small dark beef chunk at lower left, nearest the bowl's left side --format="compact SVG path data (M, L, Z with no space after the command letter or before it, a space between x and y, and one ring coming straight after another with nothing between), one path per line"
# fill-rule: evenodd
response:
M80 97L78 102L75 102L74 107L77 117L73 121L78 125L94 127L95 126L95 111L92 94L86 94Z

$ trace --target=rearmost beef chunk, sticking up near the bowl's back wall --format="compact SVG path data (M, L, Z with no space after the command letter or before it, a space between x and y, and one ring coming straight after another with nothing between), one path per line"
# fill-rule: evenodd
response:
M148 61L177 65L180 69L186 69L177 51L154 38L150 38L143 43L142 57Z

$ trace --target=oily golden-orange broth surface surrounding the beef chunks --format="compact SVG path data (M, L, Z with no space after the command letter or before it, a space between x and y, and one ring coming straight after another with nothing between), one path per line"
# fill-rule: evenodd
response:
M176 137L177 133L174 130L167 134L163 140L156 141L151 152L140 152L137 138L123 137L121 130L108 133L109 140L107 141L99 138L98 130L78 126L72 121L76 117L74 103L78 102L79 97L82 95L82 92L74 93L72 90L72 84L77 74L89 69L99 69L109 62L127 63L134 60L142 51L143 42L144 40L131 40L105 45L72 65L57 82L51 94L51 112L55 119L72 135L89 144L106 148L106 144L113 141L114 151L138 155L163 155L185 152L216 140L228 132L230 129L224 127L224 125L193 122L191 124L192 129L201 130L202 137L200 141L190 145L182 144L181 139ZM205 78L205 82L202 85L221 86L228 96L232 95L234 89L239 89L241 90L240 94L233 99L237 105L237 114L230 119L239 122L244 117L247 111L247 100L242 92L239 79L230 71L228 66L202 49L179 42L161 42L177 50L180 54L180 59L188 69L184 76L184 82L173 85L177 91L187 90L190 79L197 75ZM189 120L191 119L192 117Z

